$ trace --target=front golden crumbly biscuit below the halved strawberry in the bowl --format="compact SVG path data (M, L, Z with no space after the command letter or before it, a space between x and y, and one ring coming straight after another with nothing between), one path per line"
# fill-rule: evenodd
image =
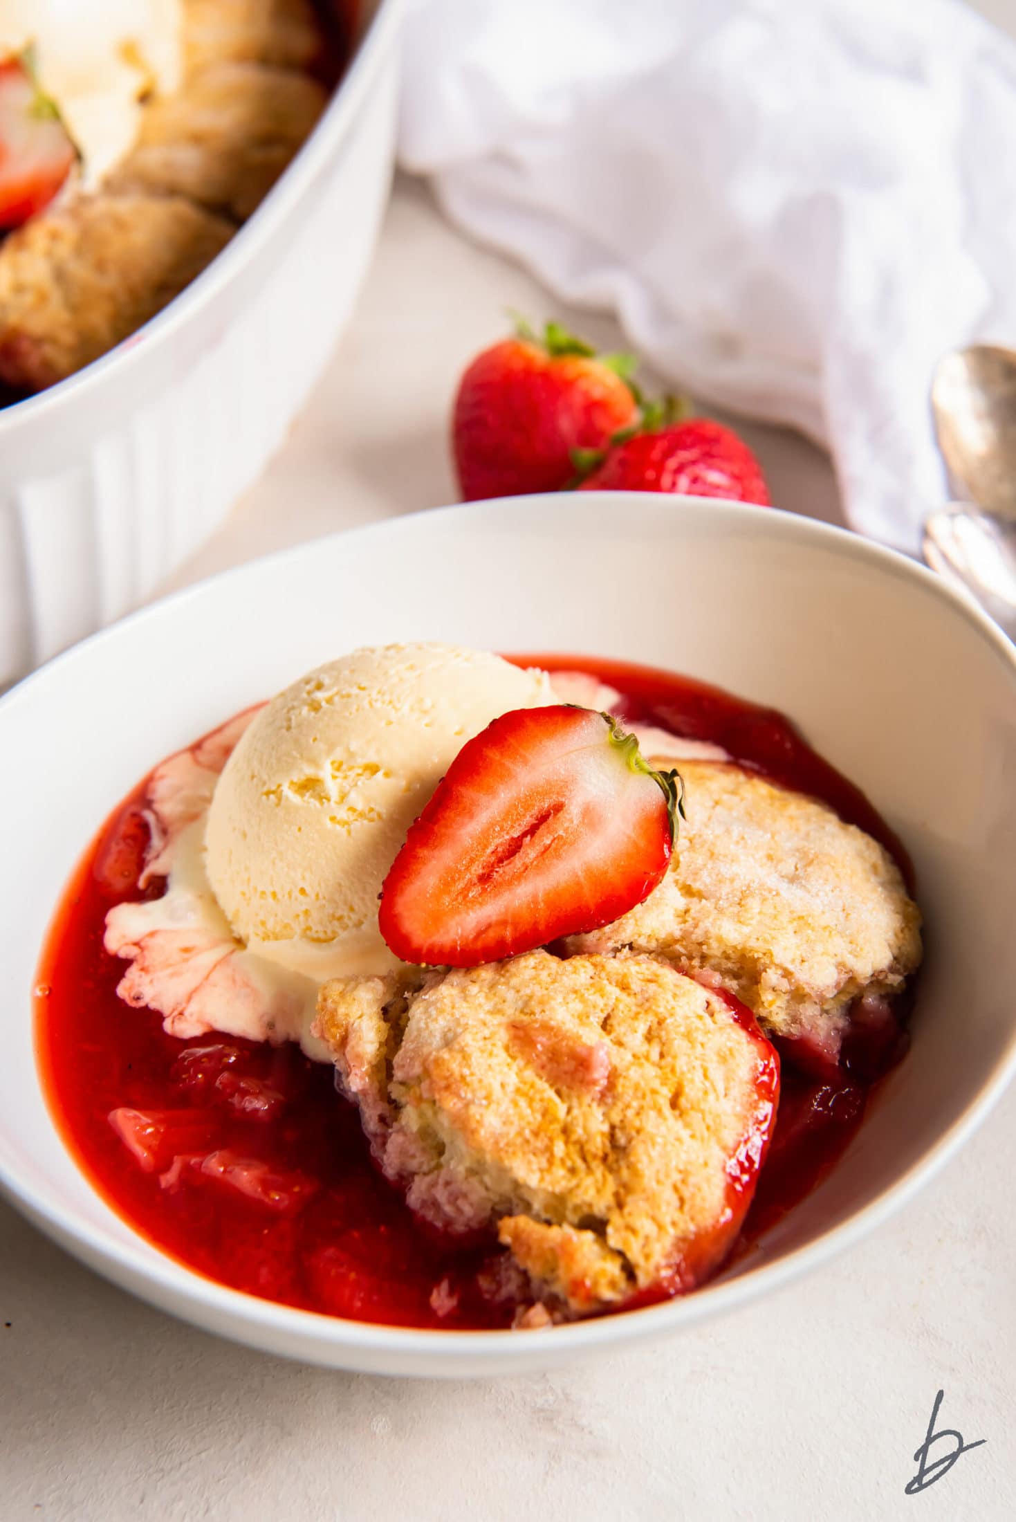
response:
M497 1224L567 1313L715 1266L776 1110L768 1044L648 956L336 979L316 1033L409 1205L453 1233Z

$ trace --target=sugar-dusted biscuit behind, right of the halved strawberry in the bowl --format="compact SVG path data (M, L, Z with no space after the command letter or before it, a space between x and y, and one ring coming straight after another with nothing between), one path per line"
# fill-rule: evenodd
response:
M920 962L920 913L896 863L824 804L736 766L681 763L687 822L666 877L567 950L657 953L715 976L770 1035L835 1061L849 1005L896 994Z

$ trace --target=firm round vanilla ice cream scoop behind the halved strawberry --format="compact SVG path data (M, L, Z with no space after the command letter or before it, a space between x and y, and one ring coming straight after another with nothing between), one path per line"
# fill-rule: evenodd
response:
M257 714L216 785L208 880L251 951L313 979L398 965L377 895L467 740L555 702L545 671L452 645L385 645L318 667Z

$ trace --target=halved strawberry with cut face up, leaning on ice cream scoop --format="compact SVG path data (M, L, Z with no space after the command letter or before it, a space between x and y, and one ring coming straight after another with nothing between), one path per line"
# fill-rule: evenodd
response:
M610 714L503 714L409 828L380 931L405 962L476 966L607 925L663 877L680 793Z

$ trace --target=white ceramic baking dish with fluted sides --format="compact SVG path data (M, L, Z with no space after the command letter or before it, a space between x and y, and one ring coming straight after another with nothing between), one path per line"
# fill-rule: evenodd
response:
M0 688L151 597L286 437L359 292L391 184L400 0L278 184L123 344L0 409Z

